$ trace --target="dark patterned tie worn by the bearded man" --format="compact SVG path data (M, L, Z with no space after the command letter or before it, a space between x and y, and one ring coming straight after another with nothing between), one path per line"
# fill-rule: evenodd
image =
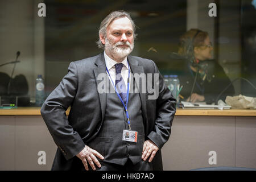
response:
M121 75L122 68L122 63L115 64L115 87L117 88L117 91L121 96L123 103L126 104L127 89L125 86L125 81L123 81L123 77Z

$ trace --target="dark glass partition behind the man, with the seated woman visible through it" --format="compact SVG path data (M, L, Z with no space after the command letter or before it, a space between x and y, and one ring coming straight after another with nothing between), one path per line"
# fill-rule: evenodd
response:
M101 53L98 28L115 10L137 26L131 55L154 60L166 78L177 75L181 101L256 97L256 1L24 0L1 1L0 10L1 106L36 106L38 75L47 97L71 61Z

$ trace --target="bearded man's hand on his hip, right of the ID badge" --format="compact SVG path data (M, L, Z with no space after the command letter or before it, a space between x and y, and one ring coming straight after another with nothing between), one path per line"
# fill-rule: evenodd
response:
M156 152L159 150L158 146L156 146L155 143L153 143L151 140L146 140L143 144L143 151L142 151L142 159L144 161L147 160L148 156L150 156L150 159L148 162L151 162L154 159L154 156Z

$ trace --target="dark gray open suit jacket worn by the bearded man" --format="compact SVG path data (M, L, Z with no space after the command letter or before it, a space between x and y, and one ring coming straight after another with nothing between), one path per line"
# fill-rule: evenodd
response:
M159 73L152 60L128 56L133 73ZM106 108L106 93L98 93L101 80L98 75L106 73L104 54L72 62L68 74L52 91L41 108L53 140L59 147L53 162L53 169L72 169L75 156L93 140L100 131ZM154 79L153 79L154 81ZM151 139L159 150L171 134L172 120L176 112L176 100L164 85L159 74L159 97L148 100L148 93L139 93L142 104L145 139ZM71 106L68 118L65 110ZM61 151L61 152L60 152ZM75 156L75 158L73 158ZM157 160L158 159L158 160ZM162 169L161 152L155 156L157 166Z

